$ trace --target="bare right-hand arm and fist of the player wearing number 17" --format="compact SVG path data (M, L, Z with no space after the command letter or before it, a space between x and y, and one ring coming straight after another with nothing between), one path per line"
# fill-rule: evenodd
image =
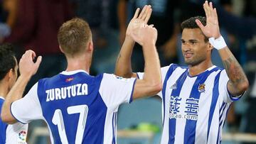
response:
M159 55L156 51L156 28L144 24L139 28L134 28L131 36L139 45L142 45L145 60L144 77L137 79L133 99L152 96L160 92L162 88Z

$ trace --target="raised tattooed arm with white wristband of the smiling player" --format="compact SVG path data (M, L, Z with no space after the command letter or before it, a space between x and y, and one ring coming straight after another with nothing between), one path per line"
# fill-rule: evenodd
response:
M206 12L207 24L206 26L203 26L202 23L198 20L196 20L196 23L201 28L206 37L214 38L215 40L213 40L213 43L216 43L216 46L220 47L217 49L220 53L220 57L223 60L225 70L230 79L228 82L228 91L233 96L239 96L240 94L243 94L249 87L249 82L247 80L245 72L242 70L242 67L238 63L238 60L235 59L233 53L229 50L228 46L225 45L225 41L220 35L218 15L216 9L213 9L213 3L210 2L208 4L208 1L206 1L205 4L203 4L203 9Z

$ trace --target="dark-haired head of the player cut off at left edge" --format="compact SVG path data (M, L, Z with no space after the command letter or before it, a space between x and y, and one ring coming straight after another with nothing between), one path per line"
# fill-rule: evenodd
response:
M8 91L17 79L18 64L11 44L0 45L0 84L6 85Z

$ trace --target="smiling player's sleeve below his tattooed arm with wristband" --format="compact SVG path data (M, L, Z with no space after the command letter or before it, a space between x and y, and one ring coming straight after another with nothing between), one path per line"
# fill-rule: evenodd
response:
M226 103L231 103L233 101L238 101L241 97L240 96L233 96L228 92L228 74L226 73L225 70L221 71L220 73L220 83L219 83L219 89L220 89L220 95L223 96L223 100Z

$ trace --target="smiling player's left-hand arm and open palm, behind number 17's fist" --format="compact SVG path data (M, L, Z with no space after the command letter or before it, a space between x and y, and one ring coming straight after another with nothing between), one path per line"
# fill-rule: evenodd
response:
M131 34L134 29L138 28L142 24L146 24L149 21L151 11L151 6L146 5L140 13L139 8L134 13L134 17L127 27L126 37L117 57L115 74L127 78L137 77L136 74L132 73L131 57L135 41L132 39Z

